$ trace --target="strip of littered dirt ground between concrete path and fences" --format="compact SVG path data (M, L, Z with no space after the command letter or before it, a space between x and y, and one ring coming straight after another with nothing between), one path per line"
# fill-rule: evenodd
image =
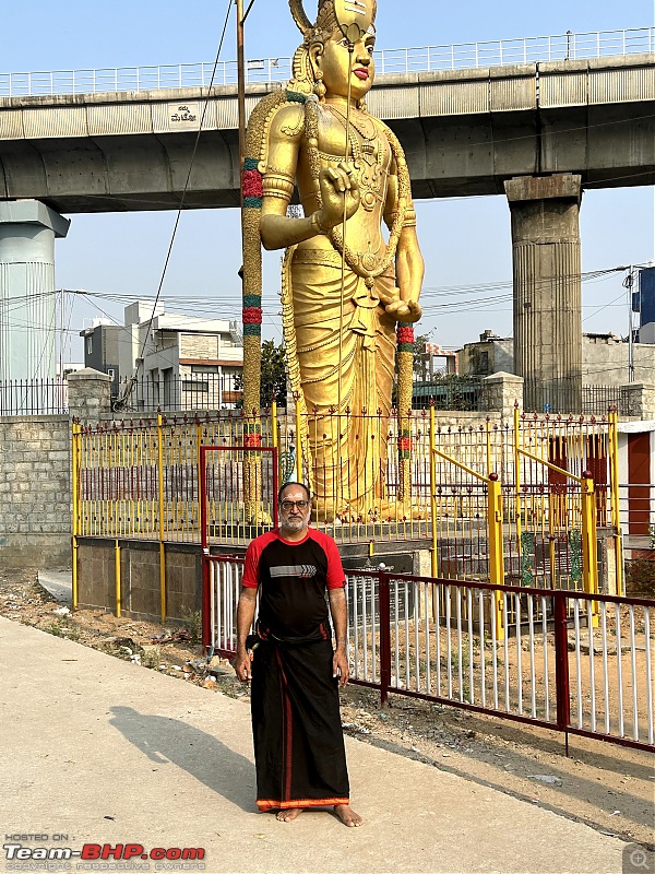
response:
M179 628L99 610L71 614L33 572L10 571L0 571L0 615L136 661L209 694L248 695L226 660L204 660L196 615ZM344 730L360 741L655 849L655 760L648 753L571 735L567 757L564 737L556 732L398 695L381 709L377 693L354 685L343 693L342 719ZM361 807L365 792L354 787Z

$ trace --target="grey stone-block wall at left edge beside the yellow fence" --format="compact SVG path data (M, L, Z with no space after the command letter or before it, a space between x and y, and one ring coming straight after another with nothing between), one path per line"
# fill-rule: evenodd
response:
M70 464L68 416L0 416L0 567L70 567Z

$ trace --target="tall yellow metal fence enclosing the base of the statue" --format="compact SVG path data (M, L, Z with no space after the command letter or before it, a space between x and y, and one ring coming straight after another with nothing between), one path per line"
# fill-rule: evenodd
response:
M382 541L431 547L436 577L595 591L600 529L600 570L608 589L621 593L615 414L585 420L516 411L513 421L460 424L445 424L433 410L359 417L380 441L378 468L368 474L380 499L364 511L353 509L358 495L352 488L341 505L319 499L314 524L337 542L368 544L371 552ZM343 434L354 416L327 418L320 428ZM324 481L307 449L318 427L311 414L275 408L258 417L75 424L73 546L78 538L112 539L117 548L120 540L200 543L202 446L224 449L210 453L205 471L209 541L246 545L269 527L275 500L272 473L262 471L253 482L263 510L249 508L248 470L261 466L264 454L271 463L258 449L278 450L279 482ZM349 463L344 452L336 468ZM369 486L362 482L362 493Z

